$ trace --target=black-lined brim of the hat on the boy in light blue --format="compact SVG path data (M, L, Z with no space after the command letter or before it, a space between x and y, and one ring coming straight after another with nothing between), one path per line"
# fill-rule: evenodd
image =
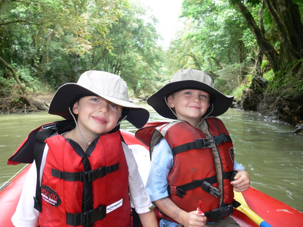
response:
M225 113L231 106L232 101L234 100L233 96L224 95L217 89L209 86L208 84L195 80L184 80L166 84L164 87L152 94L147 99L147 103L151 107L153 107L154 110L162 117L176 120L177 117L175 116L175 114L172 113L171 109L166 104L165 99L167 100L169 95L185 89L203 90L208 92L211 97L215 97L215 100L212 102L213 110L212 105L210 105L205 115L211 113L211 116L217 117Z

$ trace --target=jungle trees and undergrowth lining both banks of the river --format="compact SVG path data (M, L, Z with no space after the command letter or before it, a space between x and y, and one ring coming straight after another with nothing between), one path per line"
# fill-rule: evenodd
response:
M184 0L184 25L165 49L157 18L135 0L0 0L0 111L37 110L31 94L55 92L88 70L118 74L132 97L146 98L194 68L238 107L302 123L302 6Z

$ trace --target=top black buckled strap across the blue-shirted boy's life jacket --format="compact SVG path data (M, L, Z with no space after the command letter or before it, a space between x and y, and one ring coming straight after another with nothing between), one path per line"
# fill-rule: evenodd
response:
M212 141L209 141L212 140ZM187 150L193 150L193 149L203 149L203 148L211 148L214 147L213 145L220 145L221 143L225 142L232 142L231 137L226 135L224 132L220 134L220 136L215 135L213 137L208 138L200 138L196 139L193 142L184 143L179 146L174 147L171 149L173 156L175 156L178 153L181 153L183 151Z

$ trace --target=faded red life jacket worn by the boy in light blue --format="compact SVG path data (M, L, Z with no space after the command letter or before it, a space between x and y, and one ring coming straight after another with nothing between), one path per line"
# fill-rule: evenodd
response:
M174 157L167 178L169 198L187 212L196 210L201 200L208 221L218 220L233 211L233 144L218 118L207 117L201 127L203 132L181 120L160 125L153 131L150 152L164 137ZM142 129L136 133L139 140L141 134ZM160 217L175 222L161 212Z

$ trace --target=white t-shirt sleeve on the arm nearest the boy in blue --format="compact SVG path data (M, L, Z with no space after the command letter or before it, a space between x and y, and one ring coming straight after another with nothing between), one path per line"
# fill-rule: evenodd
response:
M153 205L144 187L144 183L138 171L138 165L135 161L135 157L125 143L122 143L122 146L128 165L128 187L131 206L135 208L138 214L149 212L151 211L150 208L153 207Z

